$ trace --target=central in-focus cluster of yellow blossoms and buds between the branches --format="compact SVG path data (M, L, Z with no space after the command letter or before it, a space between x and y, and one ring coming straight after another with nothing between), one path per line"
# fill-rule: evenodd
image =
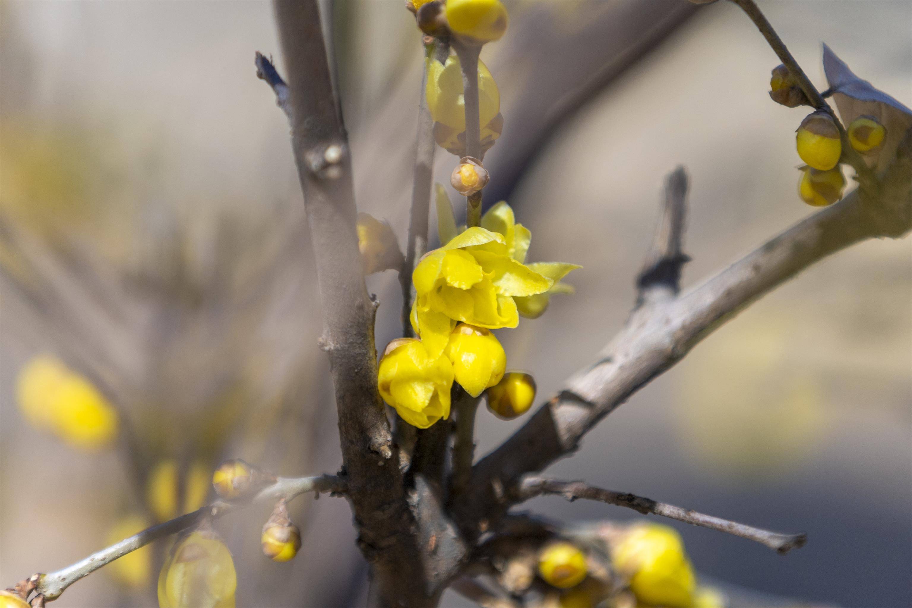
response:
M452 214L449 201L438 210ZM445 244L425 254L412 274L410 317L419 338L389 343L379 365L380 395L418 428L449 417L454 380L472 397L496 387L489 407L502 417L527 410L534 382L522 373L504 377L506 354L490 330L515 327L520 314L542 314L551 294L569 291L560 279L579 268L524 263L532 234L506 202L485 213L481 226L446 232L455 225L451 217L440 222Z

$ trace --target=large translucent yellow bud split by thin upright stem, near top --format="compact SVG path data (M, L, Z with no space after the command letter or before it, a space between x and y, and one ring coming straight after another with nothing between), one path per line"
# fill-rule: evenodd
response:
M462 68L459 57L451 55L446 63L429 58L426 61L428 109L434 122L465 131L465 100L462 97ZM501 111L501 94L497 83L482 61L478 62L479 127L496 117ZM483 135L482 135L483 138Z

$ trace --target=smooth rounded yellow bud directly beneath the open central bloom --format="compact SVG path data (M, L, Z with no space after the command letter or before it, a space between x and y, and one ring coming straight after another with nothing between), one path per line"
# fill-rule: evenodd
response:
M456 382L472 397L500 382L507 365L503 346L489 330L464 323L453 329L443 354L453 364Z

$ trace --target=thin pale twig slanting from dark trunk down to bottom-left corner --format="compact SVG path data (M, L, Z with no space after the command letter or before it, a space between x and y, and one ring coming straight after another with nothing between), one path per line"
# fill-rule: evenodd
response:
M152 526L138 532L130 538L116 542L111 546L96 551L86 559L80 560L57 572L38 575L36 592L45 596L46 600L55 600L68 586L79 579L88 576L102 566L123 557L131 551L136 551L152 541L157 541L171 534L192 528L205 518L220 518L235 510L244 508L251 502L267 502L275 500L292 500L305 492L332 492L341 494L346 491L345 481L333 475L316 475L313 477L278 478L267 488L257 492L253 500L223 502L216 501L211 505L202 507L192 513L181 515L173 520L165 521L157 526Z

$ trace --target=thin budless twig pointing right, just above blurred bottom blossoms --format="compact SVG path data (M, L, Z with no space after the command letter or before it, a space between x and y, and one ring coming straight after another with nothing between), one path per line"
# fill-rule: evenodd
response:
M596 488L584 481L561 481L542 477L525 477L519 484L516 496L519 500L529 500L536 496L556 494L566 500L586 499L606 502L617 507L627 507L644 515L660 515L672 520L683 521L694 526L728 532L742 539L756 541L779 553L785 554L793 549L803 547L807 541L805 534L781 534L754 528L737 521L723 520L711 515L698 513L695 510L681 509L664 502L643 498L634 494L616 492L610 489Z

